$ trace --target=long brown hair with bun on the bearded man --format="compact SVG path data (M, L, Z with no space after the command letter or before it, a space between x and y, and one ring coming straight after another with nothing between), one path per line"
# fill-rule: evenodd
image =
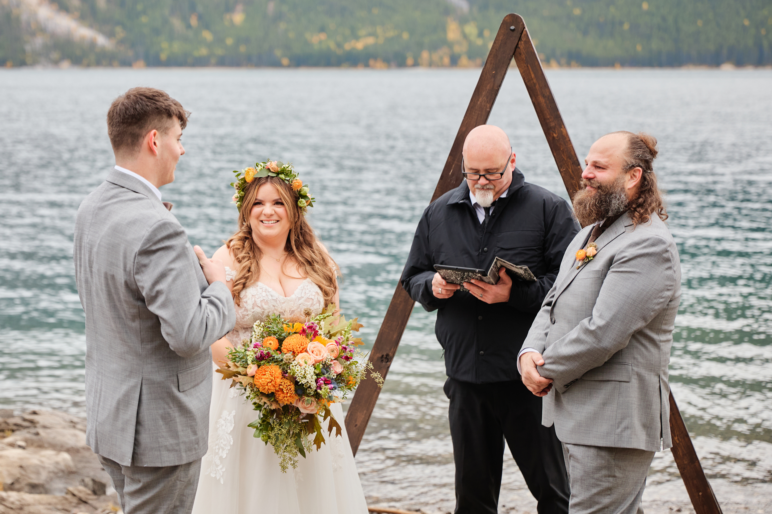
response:
M665 200L662 199L662 191L657 186L657 176L653 166L659 153L657 138L645 132L634 134L627 130L620 130L614 134L624 134L628 139L625 166L622 166L622 171L627 173L635 168L641 168L643 171L641 183L638 186L638 194L628 204L628 212L632 222L636 225L648 223L652 213L659 216L662 221L667 220Z

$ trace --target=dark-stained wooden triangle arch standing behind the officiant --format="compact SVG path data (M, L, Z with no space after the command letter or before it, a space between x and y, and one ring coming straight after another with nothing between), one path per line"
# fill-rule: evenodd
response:
M461 183L461 149L464 139L470 130L487 122L513 57L517 68L520 69L520 75L523 77L533 107L536 109L544 136L550 144L550 150L560 176L563 177L568 196L573 197L579 190L582 168L574 146L571 144L571 138L557 109L525 22L519 15L510 14L504 17L496 39L493 41L475 92L472 93L472 100L459 127L459 133L455 136L448 160L445 161L445 168L432 195L432 202ZM391 361L394 359L413 306L414 302L398 283L370 354L374 371L378 371L383 378L386 378ZM362 381L351 401L346 415L346 430L354 454L357 453L380 391L374 380ZM721 507L699 464L689 432L686 431L686 425L681 418L678 406L675 405L672 393L670 395L670 429L673 440L672 453L695 511L697 514L720 514Z

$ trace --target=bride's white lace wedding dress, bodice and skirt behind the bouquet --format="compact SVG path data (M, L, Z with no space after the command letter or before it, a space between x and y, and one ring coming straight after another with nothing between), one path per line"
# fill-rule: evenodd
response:
M232 281L235 272L227 267L225 271ZM289 297L257 283L242 291L235 328L225 337L241 344L251 335L252 324L271 314L304 321L309 311L316 316L323 307L322 293L310 279ZM299 457L297 468L283 473L273 447L252 437L254 430L247 427L257 412L230 385L215 373L209 449L201 462L193 514L367 514L340 403L330 408L343 437L327 436L325 429L322 448Z

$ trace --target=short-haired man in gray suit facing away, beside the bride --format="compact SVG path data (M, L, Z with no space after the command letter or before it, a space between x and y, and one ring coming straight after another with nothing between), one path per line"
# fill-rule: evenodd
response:
M235 324L222 262L161 202L188 112L134 88L107 113L117 166L80 204L75 274L86 314L86 442L126 514L191 512L207 451L210 344Z

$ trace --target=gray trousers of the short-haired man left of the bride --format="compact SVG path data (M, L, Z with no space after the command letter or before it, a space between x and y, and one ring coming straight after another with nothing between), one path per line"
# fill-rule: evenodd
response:
M99 455L124 514L190 514L201 459L163 467L120 465Z

